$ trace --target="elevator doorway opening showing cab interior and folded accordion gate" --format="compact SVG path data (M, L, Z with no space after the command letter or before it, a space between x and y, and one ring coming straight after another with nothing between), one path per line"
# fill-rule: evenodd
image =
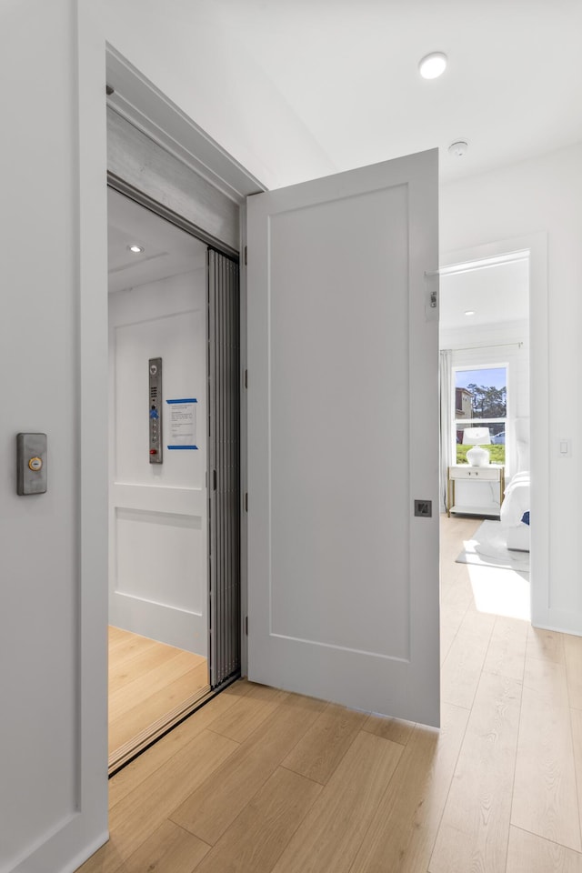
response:
M238 265L108 187L109 770L240 673Z

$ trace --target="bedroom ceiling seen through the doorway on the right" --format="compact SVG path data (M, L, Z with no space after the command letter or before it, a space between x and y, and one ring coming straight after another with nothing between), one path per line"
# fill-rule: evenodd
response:
M526 321L529 315L527 260L453 273L440 279L441 330ZM466 316L474 310L474 316Z

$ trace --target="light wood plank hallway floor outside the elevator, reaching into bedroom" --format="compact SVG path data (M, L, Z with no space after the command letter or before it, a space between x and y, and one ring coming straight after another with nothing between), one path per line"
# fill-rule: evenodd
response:
M241 680L111 780L80 870L582 873L582 639L477 609L478 524L443 519L440 731Z

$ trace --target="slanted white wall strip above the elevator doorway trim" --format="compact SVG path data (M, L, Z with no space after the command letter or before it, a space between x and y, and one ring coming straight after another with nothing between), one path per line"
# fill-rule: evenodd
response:
M217 7L206 0L100 0L99 14L115 49L264 185L335 172L249 55L228 7Z

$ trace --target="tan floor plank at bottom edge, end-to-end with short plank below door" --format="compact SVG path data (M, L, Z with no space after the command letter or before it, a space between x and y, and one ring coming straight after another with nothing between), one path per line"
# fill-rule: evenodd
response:
M271 873L322 787L277 768L196 873Z

